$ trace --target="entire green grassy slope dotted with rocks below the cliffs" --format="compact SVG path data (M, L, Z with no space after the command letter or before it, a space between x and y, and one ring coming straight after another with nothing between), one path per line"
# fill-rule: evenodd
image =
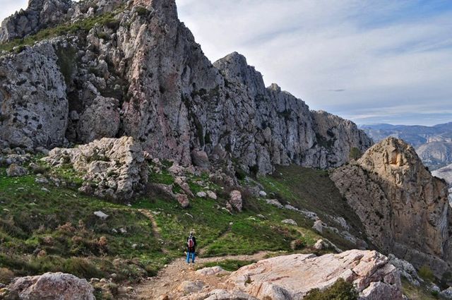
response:
M0 268L14 275L63 271L89 278L115 273L117 281L134 280L153 275L169 260L181 256L191 229L196 229L198 249L205 256L292 251L294 240L309 247L319 238L309 227L281 224L287 218L299 224L307 220L296 212L276 210L263 200L246 198L242 213L219 209L225 197L221 197L219 186L206 181L206 174L191 179L192 191L206 189L194 183L203 180L220 198L191 199L190 208L184 210L174 200L151 196L142 196L132 207L112 204L78 193L81 179L70 168L51 172L70 181L73 188L37 184L35 174L10 178L6 169L0 168ZM173 180L165 170L150 175L154 182ZM143 208L155 212L163 241L154 239L150 220L138 212ZM96 210L110 217L100 220L93 215ZM127 232L121 234L120 228ZM162 247L169 254L164 254Z

